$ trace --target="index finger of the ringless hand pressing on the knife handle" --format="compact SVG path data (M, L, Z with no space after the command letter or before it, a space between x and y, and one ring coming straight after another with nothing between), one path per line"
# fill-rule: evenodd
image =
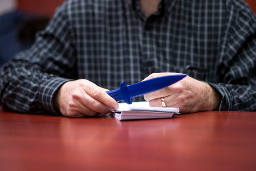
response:
M115 99L113 99L108 93L102 90L102 88L94 85L88 85L87 90L84 90L87 92L89 96L94 98L97 101L100 101L105 106L108 106L111 109L118 109L118 103ZM91 101L92 102L92 101ZM98 106L98 103L92 103L95 106Z

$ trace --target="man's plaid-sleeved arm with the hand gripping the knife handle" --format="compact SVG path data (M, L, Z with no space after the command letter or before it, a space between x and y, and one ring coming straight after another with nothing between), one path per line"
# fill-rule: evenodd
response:
M92 82L67 78L76 70L68 5L64 3L57 9L30 50L19 53L1 69L0 99L5 109L26 113L60 111L65 116L79 117L118 107L104 89Z

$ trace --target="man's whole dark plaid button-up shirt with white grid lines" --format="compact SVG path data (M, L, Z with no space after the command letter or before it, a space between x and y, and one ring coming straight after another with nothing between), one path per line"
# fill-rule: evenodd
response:
M219 110L255 111L255 33L242 0L163 0L148 18L138 0L67 1L33 47L2 68L1 104L57 113L53 97L68 80L116 89L122 80L179 72L216 88Z

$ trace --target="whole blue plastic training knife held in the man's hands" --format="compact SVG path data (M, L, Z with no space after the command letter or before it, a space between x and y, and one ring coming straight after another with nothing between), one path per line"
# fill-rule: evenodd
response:
M111 97L116 101L125 101L127 104L132 104L131 98L138 97L147 93L151 93L173 84L186 74L168 75L163 77L156 77L146 81L137 82L126 86L126 82L122 81L120 88L107 91Z

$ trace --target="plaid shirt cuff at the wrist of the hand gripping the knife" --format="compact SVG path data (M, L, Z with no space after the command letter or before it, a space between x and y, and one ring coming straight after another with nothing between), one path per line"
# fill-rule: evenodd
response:
M39 89L39 102L47 112L51 114L60 115L60 112L54 108L54 95L60 86L71 79L61 77L51 77L41 83Z

